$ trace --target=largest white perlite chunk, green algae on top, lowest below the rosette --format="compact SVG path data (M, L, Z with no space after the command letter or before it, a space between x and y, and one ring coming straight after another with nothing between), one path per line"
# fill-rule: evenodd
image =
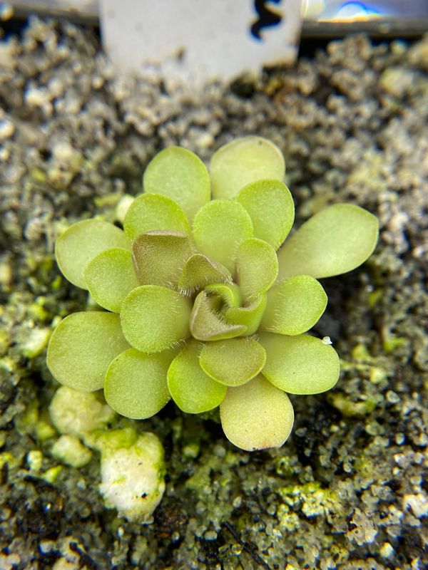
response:
M129 521L150 523L165 491L163 447L153 433L133 428L106 432L97 441L101 452L99 490L106 507Z

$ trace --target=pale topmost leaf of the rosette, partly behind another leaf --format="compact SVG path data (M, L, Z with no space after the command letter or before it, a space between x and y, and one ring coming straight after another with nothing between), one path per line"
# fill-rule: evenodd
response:
M233 199L246 185L270 178L283 180L284 157L280 149L261 137L237 138L220 147L210 161L213 198Z

